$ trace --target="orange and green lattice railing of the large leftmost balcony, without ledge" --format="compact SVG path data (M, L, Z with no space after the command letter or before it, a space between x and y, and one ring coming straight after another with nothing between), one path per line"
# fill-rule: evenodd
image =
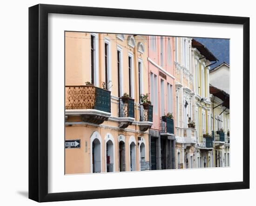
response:
M96 86L66 86L66 109L96 109L111 113L110 91Z

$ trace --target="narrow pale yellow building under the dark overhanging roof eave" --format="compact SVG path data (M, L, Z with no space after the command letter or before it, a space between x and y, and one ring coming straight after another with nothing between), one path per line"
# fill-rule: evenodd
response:
M209 93L209 69L216 57L200 42L192 40L192 61L195 88L196 167L214 166L212 103ZM213 63L212 63L213 62Z

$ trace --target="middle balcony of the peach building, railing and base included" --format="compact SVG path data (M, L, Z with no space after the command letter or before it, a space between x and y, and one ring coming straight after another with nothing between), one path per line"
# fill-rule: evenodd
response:
M126 128L135 120L134 116L134 99L129 97L119 98L119 117L120 128Z

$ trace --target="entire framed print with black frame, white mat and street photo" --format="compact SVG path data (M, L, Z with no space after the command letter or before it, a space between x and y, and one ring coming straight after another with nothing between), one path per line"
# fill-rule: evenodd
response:
M29 198L249 188L249 18L29 8Z

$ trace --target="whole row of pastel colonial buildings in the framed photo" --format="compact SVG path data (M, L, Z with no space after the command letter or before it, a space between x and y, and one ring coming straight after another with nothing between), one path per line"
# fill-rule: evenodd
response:
M65 33L65 173L229 166L229 65L193 38Z

